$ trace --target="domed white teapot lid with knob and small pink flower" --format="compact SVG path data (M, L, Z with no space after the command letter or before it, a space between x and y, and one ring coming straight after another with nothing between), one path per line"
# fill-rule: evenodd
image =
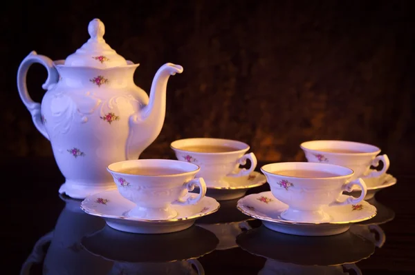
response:
M127 65L124 57L121 57L104 40L105 26L100 19L89 22L88 32L91 36L81 48L68 56L64 65L113 68Z

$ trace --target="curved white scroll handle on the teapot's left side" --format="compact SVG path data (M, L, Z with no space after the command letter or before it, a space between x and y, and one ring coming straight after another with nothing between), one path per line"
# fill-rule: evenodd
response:
M17 70L17 89L19 90L21 101L23 101L24 105L26 105L26 108L28 108L30 114L32 115L32 120L37 130L39 130L39 132L43 134L46 139L49 139L44 121L42 119L40 103L32 100L26 85L26 75L28 74L30 65L33 63L40 63L44 65L48 71L48 78L46 79L44 85L42 85L44 90L53 88L53 86L59 80L59 73L57 72L55 65L53 65L52 59L45 57L44 55L38 55L35 51L30 52L30 54L28 54L28 56L23 59L23 61L21 61L19 70Z

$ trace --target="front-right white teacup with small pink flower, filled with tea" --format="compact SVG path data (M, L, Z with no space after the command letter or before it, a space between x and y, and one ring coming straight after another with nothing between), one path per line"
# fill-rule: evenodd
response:
M304 223L330 221L322 207L326 205L356 205L362 201L367 187L362 179L350 181L353 170L326 163L271 163L261 167L271 192L279 201L288 205L282 218ZM348 196L338 201L343 191L350 192L358 185L362 194L358 198Z

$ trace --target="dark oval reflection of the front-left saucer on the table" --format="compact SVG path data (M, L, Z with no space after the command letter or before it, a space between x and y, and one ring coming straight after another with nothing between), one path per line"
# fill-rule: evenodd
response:
M91 254L109 261L160 263L198 258L212 252L219 243L216 236L201 227L170 234L131 234L106 226L82 238Z

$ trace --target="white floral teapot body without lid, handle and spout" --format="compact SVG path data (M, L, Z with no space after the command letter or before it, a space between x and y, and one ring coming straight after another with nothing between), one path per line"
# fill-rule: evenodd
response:
M131 154L129 117L149 101L133 83L135 66L57 68L59 81L44 95L41 116L66 179L59 192L84 198L116 188L107 165ZM131 155L138 159L140 150L135 151Z

